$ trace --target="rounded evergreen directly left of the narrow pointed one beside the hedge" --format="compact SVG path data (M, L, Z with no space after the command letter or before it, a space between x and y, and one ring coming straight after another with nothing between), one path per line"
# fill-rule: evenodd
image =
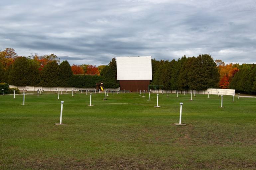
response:
M59 65L57 61L51 61L44 66L41 74L41 86L56 87L59 83Z

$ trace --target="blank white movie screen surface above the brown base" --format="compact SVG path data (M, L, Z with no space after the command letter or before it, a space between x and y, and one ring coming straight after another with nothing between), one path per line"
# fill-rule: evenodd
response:
M151 56L117 57L117 80L152 80Z

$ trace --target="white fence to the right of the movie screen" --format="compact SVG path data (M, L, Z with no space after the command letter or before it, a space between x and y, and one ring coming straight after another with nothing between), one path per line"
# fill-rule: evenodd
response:
M154 89L150 89L150 91L152 92L152 93L167 93L167 90L161 90L161 89L159 89L159 90L154 90ZM177 94L177 90L168 90L169 91L169 93L176 93ZM178 93L182 93L182 94L184 94L184 92L185 92L185 94L188 94L188 93L193 93L194 94L194 92L196 93L196 94L208 94L208 91L209 91L209 94L216 94L216 95L230 95L230 96L232 96L232 95L234 95L235 94L235 90L234 89L222 89L222 88L208 88L207 90L182 90L182 91L178 91Z

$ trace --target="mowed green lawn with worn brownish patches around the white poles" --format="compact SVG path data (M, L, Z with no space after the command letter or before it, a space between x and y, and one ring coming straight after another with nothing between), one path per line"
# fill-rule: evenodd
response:
M256 98L166 95L0 96L0 169L256 169Z

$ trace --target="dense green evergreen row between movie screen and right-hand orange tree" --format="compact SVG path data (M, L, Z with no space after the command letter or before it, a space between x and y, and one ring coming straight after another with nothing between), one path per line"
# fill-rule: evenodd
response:
M208 54L183 56L177 61L154 59L152 76L151 85L163 85L166 90L217 88L219 82L217 65Z

